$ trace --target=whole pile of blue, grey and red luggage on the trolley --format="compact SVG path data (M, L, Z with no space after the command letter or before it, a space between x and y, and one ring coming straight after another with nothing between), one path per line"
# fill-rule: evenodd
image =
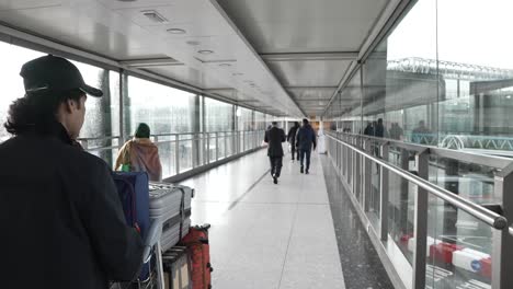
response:
M113 175L126 222L145 239L157 229L150 262L141 269L136 288L208 289L210 266L209 224L191 227L194 189L168 183L148 182L146 173L115 172ZM157 226L158 224L158 226ZM152 233L148 235L153 235ZM180 246L176 246L179 244ZM123 287L115 284L113 288Z

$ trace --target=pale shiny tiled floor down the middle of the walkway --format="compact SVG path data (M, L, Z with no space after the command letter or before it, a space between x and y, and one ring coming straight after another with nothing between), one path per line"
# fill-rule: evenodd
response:
M278 185L265 150L183 184L196 189L193 223L212 224L214 288L345 288L317 153L309 175L286 155Z

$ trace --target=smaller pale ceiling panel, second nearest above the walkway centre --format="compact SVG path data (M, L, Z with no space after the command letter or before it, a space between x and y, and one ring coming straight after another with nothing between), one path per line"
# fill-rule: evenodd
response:
M351 60L267 61L284 86L337 86Z

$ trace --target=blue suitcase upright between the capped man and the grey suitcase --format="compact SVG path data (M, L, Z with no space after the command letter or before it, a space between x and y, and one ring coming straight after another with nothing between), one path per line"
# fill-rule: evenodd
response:
M144 240L150 227L148 174L146 172L114 172L113 178L123 205L126 223L138 228ZM139 280L147 280L149 271L149 264L144 265Z

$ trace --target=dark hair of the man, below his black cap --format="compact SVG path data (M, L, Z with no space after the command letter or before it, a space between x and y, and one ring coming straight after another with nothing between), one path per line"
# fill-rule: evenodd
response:
M58 93L25 94L9 106L8 120L3 126L7 131L15 136L33 129L48 134L53 129L59 105L68 100L76 101L80 105L82 96L86 96L86 93L78 89Z

